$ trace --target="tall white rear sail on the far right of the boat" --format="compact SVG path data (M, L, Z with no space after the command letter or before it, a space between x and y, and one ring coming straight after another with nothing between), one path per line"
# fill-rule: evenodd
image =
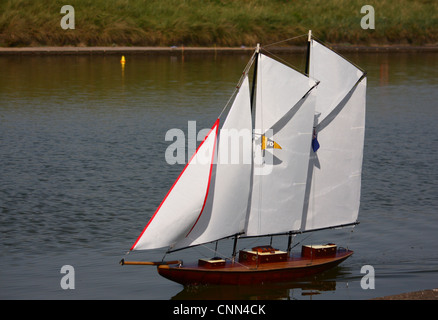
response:
M320 148L311 152L302 231L356 222L365 131L363 71L312 40L310 76L321 81L315 126Z

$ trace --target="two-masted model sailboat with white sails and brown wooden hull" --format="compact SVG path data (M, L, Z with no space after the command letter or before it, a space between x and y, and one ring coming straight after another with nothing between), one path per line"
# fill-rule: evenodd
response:
M357 224L360 202L366 76L310 32L308 41L306 74L257 46L225 119L131 248L172 252L234 237L232 257L122 264L157 265L183 285L256 284L322 272L353 254L335 244L290 252L294 234ZM281 234L285 251L261 246L236 258L238 238Z

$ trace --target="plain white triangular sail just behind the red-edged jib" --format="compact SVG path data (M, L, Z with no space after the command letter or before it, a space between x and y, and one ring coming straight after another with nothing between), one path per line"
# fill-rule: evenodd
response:
M246 76L219 131L217 163L204 212L174 250L243 232L250 192L251 143L251 106Z

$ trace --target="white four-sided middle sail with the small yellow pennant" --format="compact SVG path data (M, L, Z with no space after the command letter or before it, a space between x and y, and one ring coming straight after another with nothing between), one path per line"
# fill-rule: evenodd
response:
M257 71L247 236L300 228L315 113L314 80L263 54L259 55ZM263 139L278 147L262 150Z

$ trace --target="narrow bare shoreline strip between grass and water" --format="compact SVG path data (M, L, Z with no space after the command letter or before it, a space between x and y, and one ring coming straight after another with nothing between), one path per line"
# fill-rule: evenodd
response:
M438 45L373 45L330 46L338 52L394 53L394 52L438 52ZM107 54L172 54L172 53L249 53L252 47L0 47L2 55L107 55ZM306 47L269 47L271 52L301 53Z

